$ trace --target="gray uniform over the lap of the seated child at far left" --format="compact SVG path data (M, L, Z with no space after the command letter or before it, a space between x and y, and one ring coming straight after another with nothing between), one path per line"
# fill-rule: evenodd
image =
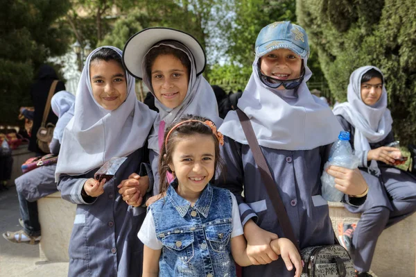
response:
M49 145L51 153L58 155L60 143L52 139ZM29 201L37 201L44 196L58 192L55 183L56 164L37 167L15 179L16 190Z

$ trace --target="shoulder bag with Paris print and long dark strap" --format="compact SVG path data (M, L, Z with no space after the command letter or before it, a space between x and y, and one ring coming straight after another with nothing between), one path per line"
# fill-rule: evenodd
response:
M283 229L284 235L291 240L297 247L302 260L304 261L304 268L302 270L302 277L354 277L354 265L349 256L347 250L343 246L336 245L324 245L324 246L311 246L302 251L297 244L295 233L291 221L289 221L288 214L284 208L284 203L281 201L279 190L275 181L272 178L270 169L267 165L266 159L261 152L257 137L254 133L250 119L244 112L237 110L237 115L243 127L245 137L247 138L248 145L253 153L254 160L259 167L261 178L266 186L266 191L270 200L272 200L273 208L277 214L279 224Z

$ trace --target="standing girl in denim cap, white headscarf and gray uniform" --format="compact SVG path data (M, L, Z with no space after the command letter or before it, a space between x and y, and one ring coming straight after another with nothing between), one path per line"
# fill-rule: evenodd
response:
M308 37L300 26L275 22L261 30L255 52L252 76L237 106L250 118L300 248L334 244L320 176L329 145L342 128L306 86L312 74L307 66ZM236 112L228 113L219 131L225 135L222 155L227 165L225 181L218 178L219 185L236 195L253 263L243 267L243 276L293 276L270 248L270 242L284 233ZM358 169L330 167L328 173L336 177L345 202L363 203L365 197L354 197L367 190Z

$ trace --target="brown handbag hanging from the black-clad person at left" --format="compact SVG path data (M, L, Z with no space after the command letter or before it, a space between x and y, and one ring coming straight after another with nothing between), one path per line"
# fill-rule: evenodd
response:
M55 129L55 125L48 123L46 124L46 119L48 119L49 110L51 109L51 99L53 96L53 92L55 92L56 85L58 84L58 80L52 82L51 88L49 89L48 99L46 100L46 105L44 109L44 116L42 118L42 124L40 128L37 130L37 146L39 149L42 150L44 153L50 153L49 144L52 141L53 137L53 129Z

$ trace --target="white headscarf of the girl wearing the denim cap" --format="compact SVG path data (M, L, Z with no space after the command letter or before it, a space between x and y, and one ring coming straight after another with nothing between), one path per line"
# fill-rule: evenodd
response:
M259 144L272 149L309 150L337 140L343 128L331 109L309 92L306 81L312 72L304 59L305 76L295 90L277 90L264 85L253 62L252 75L237 106L250 118ZM235 111L228 112L219 131L248 144Z

